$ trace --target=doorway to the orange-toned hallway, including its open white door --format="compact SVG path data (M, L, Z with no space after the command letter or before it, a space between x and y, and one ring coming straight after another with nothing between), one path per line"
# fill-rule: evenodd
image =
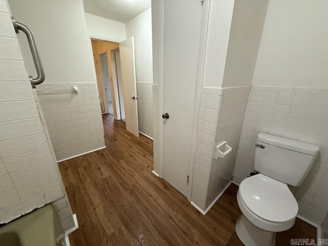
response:
M134 38L120 43L91 39L101 113L124 120L139 136Z

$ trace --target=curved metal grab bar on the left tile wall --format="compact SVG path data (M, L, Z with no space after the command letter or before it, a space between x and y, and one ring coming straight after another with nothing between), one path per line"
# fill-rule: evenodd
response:
M12 20L12 24L14 25L15 32L19 33L18 30L23 31L29 42L29 46L31 49L31 53L36 69L36 74L37 74L36 78L33 78L31 75L29 75L29 77L32 87L35 88L35 85L39 85L43 83L43 81L45 80L45 71L41 63L41 58L40 58L39 50L37 49L34 34L27 26L23 25L22 23L16 22L14 17L11 17L11 20Z

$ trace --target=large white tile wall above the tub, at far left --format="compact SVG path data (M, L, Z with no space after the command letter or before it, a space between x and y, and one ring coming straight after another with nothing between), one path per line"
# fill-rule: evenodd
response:
M3 0L0 1L0 39L4 45L0 45L0 223L59 198L66 201L72 215L39 117L9 5Z

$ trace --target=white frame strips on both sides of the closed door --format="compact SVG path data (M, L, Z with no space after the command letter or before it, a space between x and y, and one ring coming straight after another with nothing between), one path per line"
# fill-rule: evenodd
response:
M164 1L157 0L156 4L152 3L152 8L157 7L158 9L153 10L152 13L156 12L156 16L152 15L154 29L158 31L156 36L157 46L158 46L158 71L154 70L154 77L158 76L159 84L159 114L163 112L163 92L164 92ZM153 2L155 2L153 0ZM190 165L189 165L189 185L187 187L187 199L191 201L192 196L192 181L193 181L193 170L195 162L195 151L196 151L196 137L197 137L197 127L198 127L198 118L199 118L199 107L200 107L200 95L201 87L203 83L203 70L204 70L204 59L206 52L206 40L207 40L207 29L209 22L209 10L210 10L211 0L203 2L202 7L202 20L200 28L200 43L199 43L199 56L198 56L198 68L197 68L197 83L196 83L196 93L195 93L195 105L194 105L194 117L193 117L193 133L192 133L192 142L191 142L191 151L190 151ZM154 30L153 29L153 30ZM154 32L153 32L154 33ZM154 34L153 34L154 35ZM153 39L154 40L154 39ZM153 52L156 49L153 49ZM155 80L155 79L154 79ZM159 117L161 117L159 115ZM157 174L160 178L163 177L163 121L159 120L159 163L157 167Z

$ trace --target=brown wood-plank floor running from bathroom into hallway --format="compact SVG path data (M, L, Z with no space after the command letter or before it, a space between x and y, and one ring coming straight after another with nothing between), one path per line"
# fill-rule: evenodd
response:
M70 235L72 246L243 245L235 233L237 186L203 216L152 174L152 140L133 136L111 115L103 120L106 149L59 163L79 223ZM277 234L276 245L315 237L316 229L297 219L292 229Z

